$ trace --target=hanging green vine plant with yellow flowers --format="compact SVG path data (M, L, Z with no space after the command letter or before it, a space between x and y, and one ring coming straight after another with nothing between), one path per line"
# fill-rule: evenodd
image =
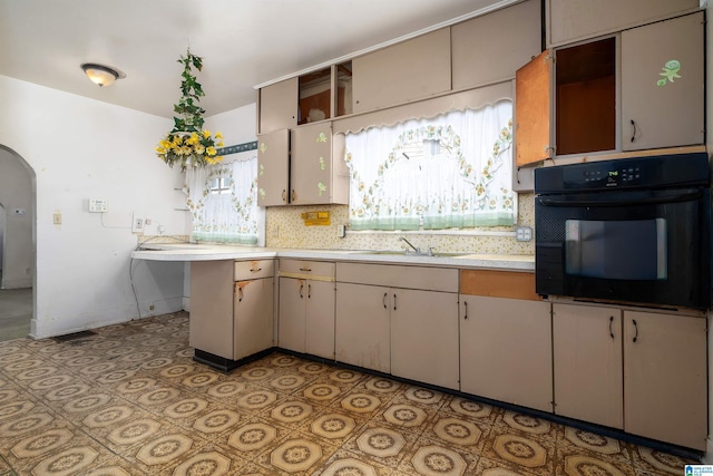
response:
M203 87L193 74L193 68L203 69L203 58L186 51L178 60L184 66L180 75L180 99L174 105L174 128L164 136L156 147L156 155L170 167L178 164L180 171L187 167L205 167L223 159L216 147L223 147L223 136L203 128L205 109L199 106L205 96Z

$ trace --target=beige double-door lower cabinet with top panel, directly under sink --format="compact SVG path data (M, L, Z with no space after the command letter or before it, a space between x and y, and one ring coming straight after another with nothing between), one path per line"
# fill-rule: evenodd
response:
M458 388L457 270L338 263L336 280L338 361Z

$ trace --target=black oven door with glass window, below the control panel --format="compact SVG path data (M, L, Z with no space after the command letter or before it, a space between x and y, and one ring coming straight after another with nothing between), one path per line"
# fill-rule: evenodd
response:
M710 194L692 188L538 196L537 292L706 309Z

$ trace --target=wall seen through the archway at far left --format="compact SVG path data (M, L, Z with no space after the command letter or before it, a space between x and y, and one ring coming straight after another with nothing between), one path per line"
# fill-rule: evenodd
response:
M0 147L0 204L3 216L0 221L0 288L17 289L32 286L35 271L35 246L32 243L32 177L26 165L10 150ZM14 211L22 211L16 214Z

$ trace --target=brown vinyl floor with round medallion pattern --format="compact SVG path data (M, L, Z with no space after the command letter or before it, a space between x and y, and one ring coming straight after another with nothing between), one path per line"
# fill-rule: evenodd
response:
M188 315L0 342L0 475L683 475L685 459L273 353L192 360Z

